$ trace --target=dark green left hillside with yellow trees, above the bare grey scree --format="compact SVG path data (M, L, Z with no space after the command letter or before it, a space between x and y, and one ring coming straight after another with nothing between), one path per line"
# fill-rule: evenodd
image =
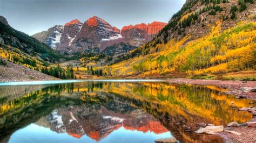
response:
M7 64L4 59L14 64ZM24 66L20 71L24 75L28 74L26 68L29 68L57 78L74 78L71 66L62 68L56 64L62 60L68 58L35 38L15 30L0 16L0 65L4 66L1 69L7 70L17 64Z

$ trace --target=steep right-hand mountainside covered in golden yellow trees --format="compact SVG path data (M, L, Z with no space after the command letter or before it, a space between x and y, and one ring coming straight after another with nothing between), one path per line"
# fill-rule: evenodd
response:
M126 61L104 67L104 72L226 79L234 71L255 70L255 6L251 0L187 0L155 38L118 59ZM130 27L146 30L146 25ZM137 33L127 35L145 37Z

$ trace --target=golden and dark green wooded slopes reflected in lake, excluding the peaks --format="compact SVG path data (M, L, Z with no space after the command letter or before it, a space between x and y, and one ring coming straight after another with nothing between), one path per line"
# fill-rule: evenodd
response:
M233 101L242 107L248 105L250 100L222 95L219 90L167 83L81 82L50 85L17 98L0 98L0 136L6 138L18 128L37 121L60 106L85 105L89 108L104 105L120 113L134 108L144 110L170 131L178 131L174 135L178 139L196 141L199 138L197 135L185 133L177 123L185 121L186 125L193 127L199 121L226 124L234 119L242 122L252 118L249 113L238 112L230 104ZM120 108L117 103L125 104Z

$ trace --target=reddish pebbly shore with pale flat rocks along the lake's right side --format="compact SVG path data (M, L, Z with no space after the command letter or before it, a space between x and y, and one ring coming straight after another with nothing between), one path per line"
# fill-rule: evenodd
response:
M236 95L236 98L253 99L256 102L256 81L221 81L221 80L191 80L185 78L176 78L169 80L169 83L178 84L196 84L196 85L214 85L227 91L223 94ZM197 133L218 134L225 142L256 142L256 106L238 109L241 112L250 112L253 119L246 123L238 124L236 121L224 126L214 126L205 124L204 127L197 130ZM204 123L199 123L204 124Z

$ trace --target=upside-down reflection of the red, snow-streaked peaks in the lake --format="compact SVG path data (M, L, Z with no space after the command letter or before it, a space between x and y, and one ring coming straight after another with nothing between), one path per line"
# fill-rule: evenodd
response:
M119 106L116 108L120 109ZM144 111L132 108L126 113L120 113L100 105L90 108L84 106L59 108L49 116L39 119L36 124L50 127L51 130L59 133L67 132L75 138L86 134L96 141L107 137L122 126L132 131L150 131L156 134L169 132L160 121Z

